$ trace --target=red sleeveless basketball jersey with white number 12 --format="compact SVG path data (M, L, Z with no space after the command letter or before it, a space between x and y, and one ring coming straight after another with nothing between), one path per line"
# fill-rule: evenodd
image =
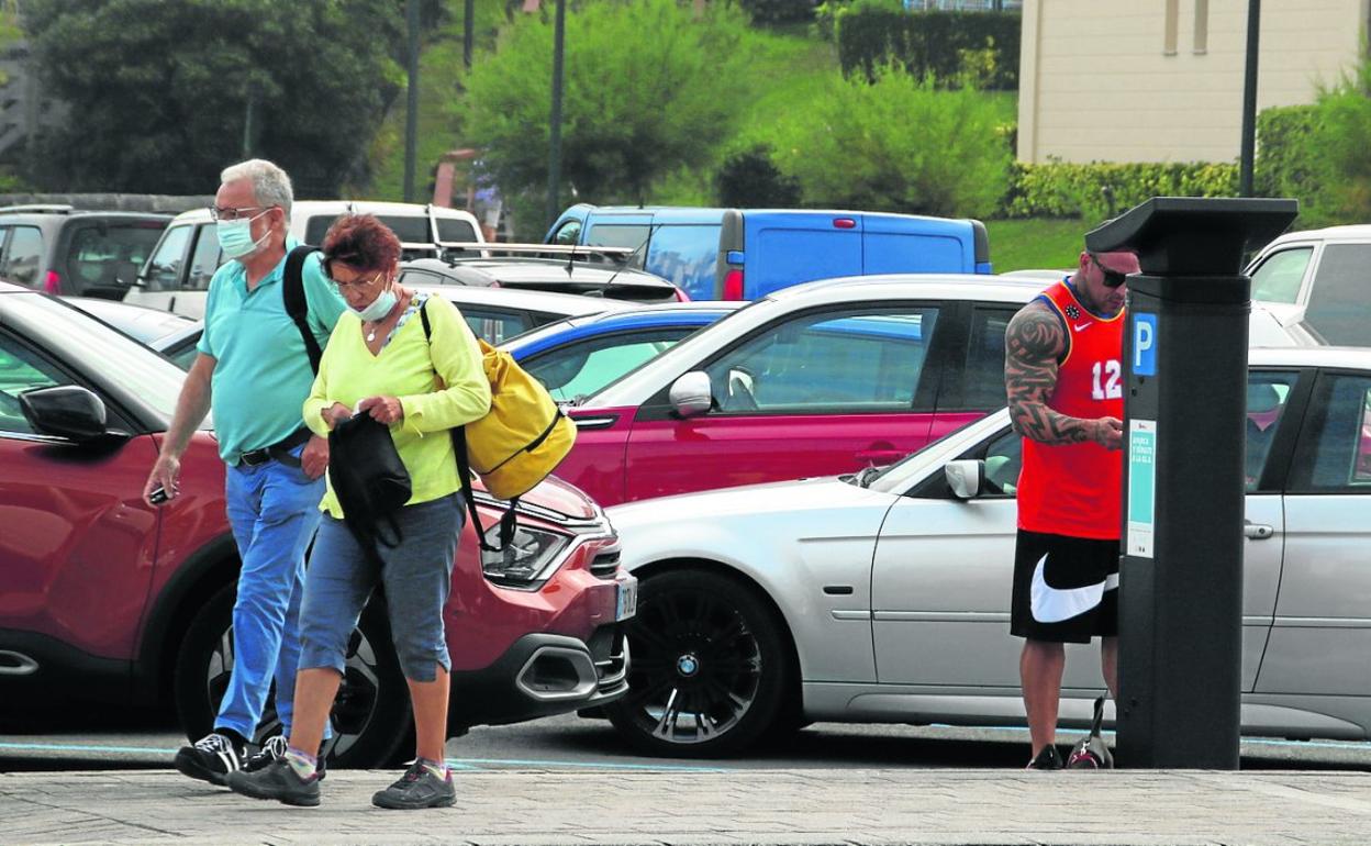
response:
M1042 299L1067 328L1067 352L1047 406L1069 417L1123 420L1124 313L1111 318L1090 313L1065 281L1043 291ZM1019 528L1113 540L1120 532L1121 495L1121 450L1024 437Z

